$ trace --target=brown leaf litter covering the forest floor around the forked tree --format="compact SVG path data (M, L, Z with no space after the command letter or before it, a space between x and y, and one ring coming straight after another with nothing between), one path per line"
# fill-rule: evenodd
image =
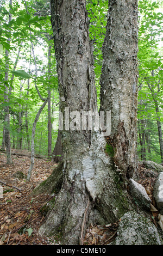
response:
M27 174L30 166L30 153L27 150L12 150L12 164L6 164L5 153L0 153L0 180L3 187L0 198L0 245L60 245L56 237L42 237L38 230L45 221L40 209L54 197L53 195L32 196L34 187L52 173L57 163L46 158L35 158L32 178L16 178L16 173ZM139 165L140 183L146 188L152 199L154 178L146 177L146 168ZM17 190L17 187L19 190ZM1 188L0 187L0 188ZM1 196L1 194L0 194ZM153 200L153 199L152 199ZM154 202L153 202L154 205ZM151 212L151 221L157 226L158 212ZM86 230L84 245L108 245L116 237L118 222L103 227L90 225Z

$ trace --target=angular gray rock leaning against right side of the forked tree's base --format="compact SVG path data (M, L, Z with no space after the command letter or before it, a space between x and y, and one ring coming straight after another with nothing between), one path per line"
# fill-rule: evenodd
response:
M133 179L129 179L129 188L130 194L136 201L136 203L145 210L150 210L151 199L148 197L148 194L141 184L137 183Z

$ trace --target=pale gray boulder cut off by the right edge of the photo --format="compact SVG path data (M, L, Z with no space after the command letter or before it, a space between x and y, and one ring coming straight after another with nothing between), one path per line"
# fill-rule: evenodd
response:
M153 187L153 197L160 214L163 215L163 172L161 172L156 178L155 185Z

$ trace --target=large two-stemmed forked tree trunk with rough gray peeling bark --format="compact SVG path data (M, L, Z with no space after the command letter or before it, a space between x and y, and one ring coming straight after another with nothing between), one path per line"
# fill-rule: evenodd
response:
M115 11L113 11L114 8L112 8L113 4ZM118 151L120 148L122 149L123 155L120 154L120 157L123 156L125 161L124 164L123 162L121 163L121 158L118 159L116 155L115 159L117 160L117 165L113 161L114 159L108 155L109 152L107 151L103 132L97 129L97 131L91 129L84 130L81 129L80 126L80 115L82 115L82 112L97 111L95 75L93 71L93 58L85 5L85 0L51 0L51 21L55 54L58 63L60 111L62 113L65 111L66 113L67 109L69 109L71 115L70 118L68 117L66 119L66 123L65 120L63 120L64 130L61 131L62 147L64 151L64 165L62 168L64 180L61 190L58 193L55 206L39 231L41 234L46 235L61 234L61 242L66 245L77 245L78 243L82 245L83 233L89 223L106 224L114 222L120 218L124 212L134 208L128 199L124 181L126 181L126 174L129 173L129 176L131 176L133 168L136 166L134 155L136 135L133 126L136 118L137 92L137 70L135 64L137 51L137 2L131 0L128 2L124 0L109 1L110 11L112 11L110 15L114 15L113 20L115 19L115 25L116 22L122 23L122 25L120 27L117 26L116 29L122 29L123 27L123 32L126 36L128 51L126 50L124 54L127 54L129 58L131 53L130 48L134 47L135 51L134 56L131 56L135 66L132 70L132 74L130 72L130 80L128 78L127 82L123 82L121 78L118 82L118 78L115 79L115 87L121 89L121 91L120 89L116 90L117 93L115 97L118 97L122 102L127 101L122 109L124 115L118 116L118 113L121 113L120 107L115 108L117 105L114 106L112 102L108 102L108 105L112 104L112 113L114 113L114 108L116 112L112 129L116 130L115 136L117 137L115 137L113 142L117 144ZM120 5L122 7L121 11ZM116 10L118 12L117 15ZM123 19L122 14L125 16L125 19ZM110 19L106 32L106 38L108 39L111 36L109 31L109 27L111 26ZM133 29L128 31L128 26ZM124 29L125 27L126 30ZM120 33L120 31L117 32L117 35L118 33ZM120 40L120 38L118 38L118 40ZM135 44L133 44L133 41ZM112 44L113 43L112 41ZM108 47L106 46L106 40L104 47ZM121 51L122 50L123 47L121 48ZM114 54L116 54L116 51L117 48ZM106 54L105 51L104 54ZM108 63L109 57L104 56L104 58L105 62ZM130 64L132 64L131 60L130 63L124 67L127 69L126 71L124 70L126 75L128 74L128 69L131 71ZM121 70L118 72L118 69L120 69L120 65L117 68L115 76L121 74ZM103 80L104 78L102 78L102 81ZM106 84L104 85L104 83ZM103 86L110 92L108 85L109 81L104 80ZM121 99L118 96L118 92L121 93ZM107 96L110 97L109 94ZM123 97L125 99L123 99ZM106 103L106 99L104 101ZM65 109L65 107L68 108ZM78 116L78 118L74 118L75 115ZM75 120L71 121L73 118ZM69 130L67 129L68 121L70 121ZM77 122L76 127L74 121ZM132 127L131 124L133 124ZM131 135L129 136L130 132ZM113 130L111 130L111 135L113 135ZM121 145L118 136L122 140ZM128 142L128 138L131 139L131 143ZM126 143L128 143L128 147ZM120 167L118 167L118 165L120 165ZM122 166L124 167L123 170ZM125 178L123 178L123 176Z

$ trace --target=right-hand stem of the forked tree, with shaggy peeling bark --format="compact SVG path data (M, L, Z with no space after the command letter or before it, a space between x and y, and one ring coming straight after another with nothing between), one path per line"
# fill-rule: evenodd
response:
M101 110L111 111L107 141L128 178L136 169L137 13L137 0L109 1L101 76Z

